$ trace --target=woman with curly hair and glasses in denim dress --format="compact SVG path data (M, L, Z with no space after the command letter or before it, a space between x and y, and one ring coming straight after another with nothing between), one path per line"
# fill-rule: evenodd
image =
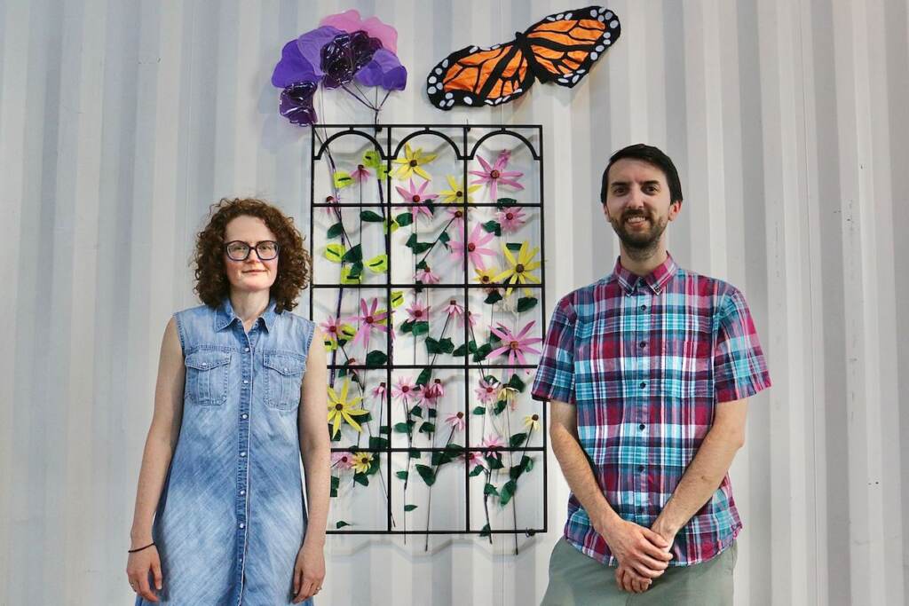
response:
M136 604L274 606L321 589L325 346L290 313L311 267L293 222L259 200L222 200L198 234L205 304L165 329L139 474Z

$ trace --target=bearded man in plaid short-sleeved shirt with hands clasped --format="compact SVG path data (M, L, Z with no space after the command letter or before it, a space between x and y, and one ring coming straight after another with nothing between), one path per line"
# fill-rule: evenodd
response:
M559 301L534 381L572 492L543 603L732 604L727 472L770 386L754 323L734 286L666 252L682 210L666 154L613 154L600 200L621 255Z

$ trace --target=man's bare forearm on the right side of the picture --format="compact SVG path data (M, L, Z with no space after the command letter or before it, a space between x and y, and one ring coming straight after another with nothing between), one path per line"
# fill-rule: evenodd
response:
M735 452L741 447L742 439L736 432L715 426L707 432L672 497L657 516L653 530L672 541L675 533L716 492L732 465Z

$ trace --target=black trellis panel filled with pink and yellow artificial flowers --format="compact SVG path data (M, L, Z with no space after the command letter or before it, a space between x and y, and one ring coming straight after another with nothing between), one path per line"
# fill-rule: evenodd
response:
M327 335L329 531L545 531L543 134L314 128L313 318Z

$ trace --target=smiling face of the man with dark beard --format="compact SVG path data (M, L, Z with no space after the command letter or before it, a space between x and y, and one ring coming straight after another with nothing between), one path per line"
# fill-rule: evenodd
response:
M653 164L624 158L609 169L603 213L629 252L656 250L681 208L670 200L666 175Z

